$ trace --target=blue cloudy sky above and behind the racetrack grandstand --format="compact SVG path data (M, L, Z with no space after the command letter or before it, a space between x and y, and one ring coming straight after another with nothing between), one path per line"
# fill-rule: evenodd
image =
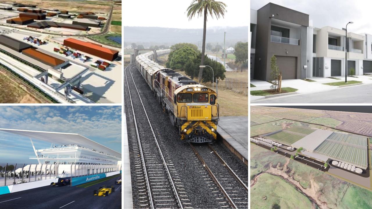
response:
M0 128L80 134L121 153L121 106L0 106ZM33 155L29 138L0 131L0 163L37 163Z

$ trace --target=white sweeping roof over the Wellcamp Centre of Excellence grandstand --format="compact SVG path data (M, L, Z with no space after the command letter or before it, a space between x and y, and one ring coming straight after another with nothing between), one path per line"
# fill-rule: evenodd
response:
M47 131L28 131L28 130L18 130L18 129L5 129L0 128L0 131L17 134L21 136L26 136L33 139L38 139L41 141L54 143L54 144L78 144L81 147L86 147L90 149L96 149L97 151L105 152L111 156L116 156L121 158L121 153L116 152L108 147L103 146L91 139L88 139L79 134L71 133L60 133L60 132L47 132Z

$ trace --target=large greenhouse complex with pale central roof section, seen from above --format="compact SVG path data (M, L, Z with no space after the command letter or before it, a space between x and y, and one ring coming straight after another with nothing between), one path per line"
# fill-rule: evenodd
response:
M324 162L331 159L363 169L368 167L365 136L299 126L260 136L294 148L302 147L302 154Z

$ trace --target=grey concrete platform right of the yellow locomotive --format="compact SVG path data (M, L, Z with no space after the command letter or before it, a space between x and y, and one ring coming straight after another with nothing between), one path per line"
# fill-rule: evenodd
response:
M227 148L248 165L248 116L219 117L217 132Z

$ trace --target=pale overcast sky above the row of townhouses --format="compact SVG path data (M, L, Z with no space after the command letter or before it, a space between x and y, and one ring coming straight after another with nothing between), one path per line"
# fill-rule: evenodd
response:
M350 0L251 0L251 9L258 10L267 3L272 2L306 13L316 28L331 26L345 28L354 33L372 34L371 8L372 1Z

